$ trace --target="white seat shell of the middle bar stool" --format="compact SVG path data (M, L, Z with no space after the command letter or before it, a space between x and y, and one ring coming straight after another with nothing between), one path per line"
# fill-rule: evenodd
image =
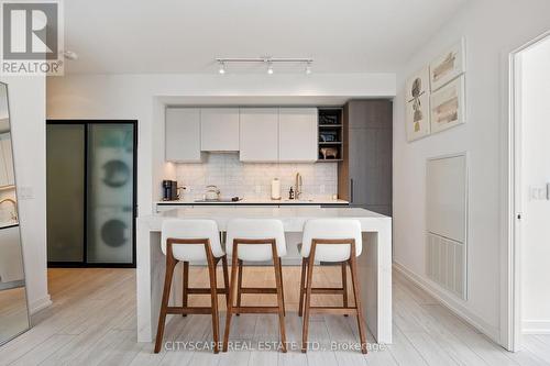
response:
M228 256L233 253L234 239L275 239L277 255L286 255L285 230L280 220L272 219L235 219L228 222L226 251ZM264 262L273 259L270 244L239 244L239 259Z

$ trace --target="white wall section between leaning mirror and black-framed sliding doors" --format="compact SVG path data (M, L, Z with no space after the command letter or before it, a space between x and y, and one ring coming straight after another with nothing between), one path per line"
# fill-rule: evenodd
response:
M20 195L19 214L29 303L51 303L46 274L46 87L44 77L1 77L8 84L10 122ZM22 188L31 197L21 197Z

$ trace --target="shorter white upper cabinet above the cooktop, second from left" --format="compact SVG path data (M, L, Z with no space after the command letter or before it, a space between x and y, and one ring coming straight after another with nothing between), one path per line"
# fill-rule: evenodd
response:
M200 131L201 151L238 152L239 108L202 108Z

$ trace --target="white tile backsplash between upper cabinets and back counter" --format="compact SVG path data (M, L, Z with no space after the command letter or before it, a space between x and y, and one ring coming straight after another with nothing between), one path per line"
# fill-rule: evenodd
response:
M187 189L186 199L201 199L206 186L215 185L223 198L270 199L273 178L280 179L283 199L302 177L304 199L328 199L338 191L338 163L242 163L239 153L210 153L202 164L176 164L179 186Z

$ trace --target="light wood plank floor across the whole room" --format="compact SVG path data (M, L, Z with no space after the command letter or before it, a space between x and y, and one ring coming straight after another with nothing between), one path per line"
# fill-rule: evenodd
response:
M301 340L297 315L299 267L284 267L286 328L289 342ZM191 286L207 284L205 268L191 267ZM221 275L221 274L220 274ZM337 286L340 267L316 267L317 284ZM221 276L220 276L221 277ZM212 354L200 351L162 351L136 343L135 270L51 269L50 291L54 304L33 317L34 328L0 347L0 365L550 365L550 335L526 337L526 350L508 353L438 304L399 274L394 274L394 344L362 355L358 351L332 351L331 344L358 342L353 317L314 317L310 341L327 351L257 350L260 341L276 342L276 315L242 314L232 321L231 340L254 350ZM273 268L248 267L245 286L273 284ZM348 281L349 284L351 280ZM207 296L191 304L207 304ZM317 296L324 304L339 304L340 297ZM245 296L243 302L275 303L270 295ZM320 303L320 302L318 302ZM220 297L220 307L223 298ZM223 312L221 333L223 333ZM165 341L211 340L208 315L176 317L166 326ZM369 342L373 337L369 334ZM198 343L200 345L202 343ZM187 347L190 343L186 344Z

